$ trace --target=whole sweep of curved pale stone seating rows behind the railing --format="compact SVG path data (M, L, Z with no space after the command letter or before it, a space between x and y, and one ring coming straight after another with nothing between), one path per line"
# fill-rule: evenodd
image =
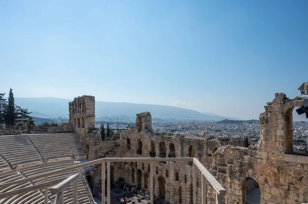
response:
M0 136L0 185L39 173L76 165L74 160L86 160L86 154L75 133L69 133L67 135L62 133ZM80 175L78 182L78 203L94 203L86 184L83 169L52 175L48 179L54 180L75 173L79 173ZM0 193L43 182L45 182L45 178L34 179L25 184L0 188ZM48 195L48 203L52 203L55 196L51 196L50 191L48 191ZM72 185L64 191L64 200L65 203L72 203ZM44 190L37 190L0 200L0 204L9 203L44 203Z

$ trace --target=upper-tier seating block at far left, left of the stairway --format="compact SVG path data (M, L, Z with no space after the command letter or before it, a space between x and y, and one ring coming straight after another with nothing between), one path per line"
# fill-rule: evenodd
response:
M0 154L13 168L22 164L42 162L40 154L25 135L0 136Z

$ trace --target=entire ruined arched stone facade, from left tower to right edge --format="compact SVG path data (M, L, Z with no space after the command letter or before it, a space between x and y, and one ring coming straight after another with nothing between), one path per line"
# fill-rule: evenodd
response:
M254 186L260 188L263 204L308 202L308 156L292 152L292 110L301 106L302 100L290 100L284 94L275 94L273 102L268 102L265 112L260 115L259 144L245 148L240 137L219 137L215 140L153 132L149 112L137 114L136 127L122 131L120 141L101 141L100 131L93 128L94 97L83 97L70 103L70 122L90 160L102 157L197 157L226 189L224 203L245 203L246 189ZM87 108L87 101L92 111ZM79 108L80 102L85 105L86 111ZM84 127L78 127L74 123L76 118L89 120ZM115 184L122 178L134 188L149 189L150 165L155 165L154 193L157 197L165 196L168 201L169 164L112 163L111 183ZM181 176L180 163L175 163L174 172L175 203L181 203L181 183L185 177ZM94 177L95 183L99 183L100 166L94 167ZM207 200L215 203L215 192L210 185Z

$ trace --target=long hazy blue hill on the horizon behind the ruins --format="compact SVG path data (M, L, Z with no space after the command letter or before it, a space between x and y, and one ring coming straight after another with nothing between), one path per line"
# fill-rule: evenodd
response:
M54 97L43 98L15 98L15 103L21 107L28 108L33 116L38 118L68 118L68 102L70 99L59 99ZM229 119L217 114L202 114L201 112L167 105L118 103L95 101L96 117L136 117L137 113L149 111L152 117L194 119L221 121Z

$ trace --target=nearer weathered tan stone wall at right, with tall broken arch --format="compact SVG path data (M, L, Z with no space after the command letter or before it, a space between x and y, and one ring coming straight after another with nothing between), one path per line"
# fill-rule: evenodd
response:
M292 111L302 100L275 94L260 115L261 137L255 146L218 148L211 172L226 189L225 203L245 203L245 179L258 183L261 203L308 201L308 156L293 150ZM212 199L213 201L213 199Z

